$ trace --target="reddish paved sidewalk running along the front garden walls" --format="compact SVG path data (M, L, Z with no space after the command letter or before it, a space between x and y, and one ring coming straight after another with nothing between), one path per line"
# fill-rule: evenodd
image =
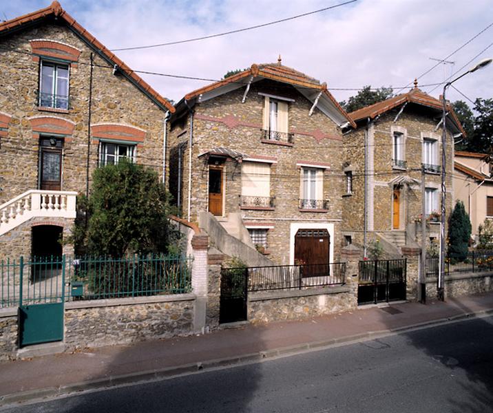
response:
M485 313L493 313L493 293L0 363L0 405L294 354Z

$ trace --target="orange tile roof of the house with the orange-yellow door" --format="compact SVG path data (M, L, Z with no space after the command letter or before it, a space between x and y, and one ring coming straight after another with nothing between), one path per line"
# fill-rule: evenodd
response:
M415 103L417 105L430 107L432 109L437 109L440 111L442 110L441 101L430 96L429 94L426 94L425 92L421 91L421 89L418 89L417 83L415 83L415 87L412 88L408 93L399 94L381 102L374 103L373 105L362 107L361 109L355 110L355 112L350 112L349 116L355 122L366 118L373 119L379 114L383 114L384 112L394 109L395 107L398 107L406 102ZM450 105L448 109L449 115L452 117L452 121L454 122L455 126L457 127L457 129L459 129L459 131L461 131L461 134L465 136L465 131L454 110Z

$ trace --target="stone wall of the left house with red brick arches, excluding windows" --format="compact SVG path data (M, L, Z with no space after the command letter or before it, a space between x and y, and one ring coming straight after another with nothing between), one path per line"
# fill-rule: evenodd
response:
M90 185L92 172L99 164L101 142L135 145L136 162L162 176L165 107L158 105L123 74L118 71L114 74L111 61L88 46L87 41L62 20L59 24L46 21L14 34L0 32L0 85L3 91L0 95L0 204L30 189L39 189L41 138L62 141L62 191L85 193L87 165ZM58 45L60 53L73 52L67 52L62 60L70 68L68 109L41 106L40 65L60 62L60 56L59 52L43 52L47 50L43 41L33 41L35 39ZM90 91L92 55L94 67ZM65 222L63 226L65 235L70 231L70 224ZM28 226L0 236L0 256L30 254L29 237Z

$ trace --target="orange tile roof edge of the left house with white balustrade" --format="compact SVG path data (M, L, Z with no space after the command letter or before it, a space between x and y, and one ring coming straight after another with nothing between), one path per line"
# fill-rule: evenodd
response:
M29 14L24 14L23 16L16 17L15 19L4 21L0 23L0 36L7 34L11 30L19 30L23 26L28 25L30 23L37 23L42 19L48 17L56 17L59 21L65 21L67 25L69 25L72 30L78 33L85 41L90 43L95 50L103 54L106 59L111 61L114 65L118 67L120 72L126 74L129 78L134 81L136 86L142 90L145 94L156 100L159 105L165 107L169 112L175 112L175 108L171 103L168 102L165 98L163 98L156 90L154 90L150 85L148 85L143 78L140 78L138 74L136 74L130 67L128 67L123 61L118 59L118 57L108 50L96 37L94 37L90 32L87 32L85 28L83 28L77 21L70 16L63 8L61 7L58 1L53 1L47 8L43 8L36 12L32 12Z

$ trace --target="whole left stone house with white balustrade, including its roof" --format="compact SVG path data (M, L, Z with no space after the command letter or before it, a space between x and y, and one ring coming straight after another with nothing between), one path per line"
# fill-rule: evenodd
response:
M57 1L0 23L0 66L0 259L59 255L98 165L162 176L174 107Z

